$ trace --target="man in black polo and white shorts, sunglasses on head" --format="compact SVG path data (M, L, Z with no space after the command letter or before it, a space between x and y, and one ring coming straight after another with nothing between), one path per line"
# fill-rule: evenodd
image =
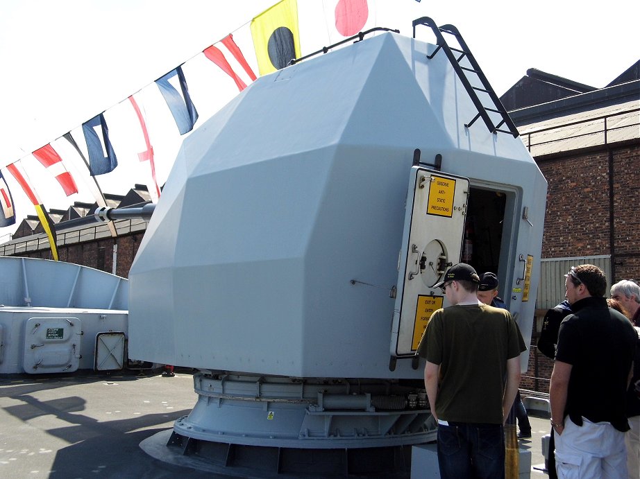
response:
M573 314L560 324L549 388L557 475L624 479L625 394L637 334L607 305L600 268L578 265L565 277Z

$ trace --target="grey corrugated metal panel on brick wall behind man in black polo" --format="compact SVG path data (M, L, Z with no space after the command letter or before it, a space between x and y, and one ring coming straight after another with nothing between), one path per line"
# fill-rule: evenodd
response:
M564 275L571 266L579 264L592 264L598 266L607 275L607 292L611 288L611 256L574 256L573 258L548 258L540 260L540 284L536 297L536 308L553 308L564 299Z

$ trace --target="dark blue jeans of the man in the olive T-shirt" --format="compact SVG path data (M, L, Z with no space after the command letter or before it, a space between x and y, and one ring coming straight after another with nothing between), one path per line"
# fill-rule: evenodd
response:
M439 424L438 465L444 479L504 479L505 433L502 424Z

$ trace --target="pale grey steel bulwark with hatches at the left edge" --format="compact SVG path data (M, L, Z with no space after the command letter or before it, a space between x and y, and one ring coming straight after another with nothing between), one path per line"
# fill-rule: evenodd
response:
M0 256L0 374L94 369L99 333L128 335L128 280L86 266ZM121 369L124 345L102 351Z

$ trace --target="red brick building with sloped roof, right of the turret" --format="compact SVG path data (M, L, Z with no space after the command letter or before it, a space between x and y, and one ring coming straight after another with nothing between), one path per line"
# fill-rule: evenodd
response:
M548 392L553 361L535 342L541 316L564 299L568 265L595 263L609 285L640 279L639 78L640 62L603 89L530 70L501 98L548 181L540 315L524 389Z

